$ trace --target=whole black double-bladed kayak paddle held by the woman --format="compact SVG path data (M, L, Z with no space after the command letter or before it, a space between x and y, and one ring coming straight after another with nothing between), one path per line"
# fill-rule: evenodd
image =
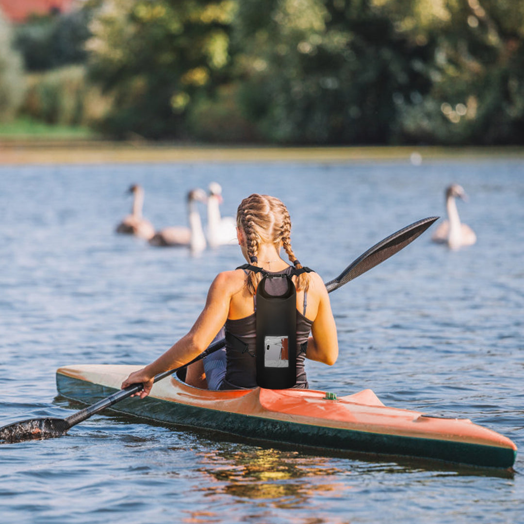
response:
M342 273L333 280L326 283L326 289L328 292L339 289L345 283L353 280L354 278L362 275L369 269L380 264L391 255L399 252L400 249L406 247L409 243L413 242L415 238L421 235L428 227L438 220L438 216L431 216L427 219L419 220L413 224L404 227L400 231L389 235L383 241L375 244L369 248L365 253L359 256L353 263L342 271ZM176 373L179 369L189 366L204 358L207 355L219 350L225 346L225 339L219 340L211 344L203 353L193 358L191 362L184 364L176 369L170 369L163 373L159 373L155 376L155 382L165 378L173 373ZM92 406L88 406L76 413L73 413L69 417L64 419L58 418L40 418L40 419L28 419L21 422L14 422L0 428L0 441L6 443L19 442L22 440L31 439L46 439L64 435L73 425L83 422L90 418L95 413L102 411L110 406L116 404L121 400L124 400L135 393L138 393L143 388L142 384L133 384L126 389L121 389L113 395L110 395L99 402L94 403Z

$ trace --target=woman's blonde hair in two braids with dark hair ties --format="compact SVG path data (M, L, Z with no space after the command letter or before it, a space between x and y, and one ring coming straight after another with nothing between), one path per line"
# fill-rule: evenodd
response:
M275 244L278 251L282 242L291 264L297 269L302 267L291 248L291 218L281 200L275 196L253 193L238 206L236 222L238 228L246 235L247 255L251 265L258 267L257 255L261 243ZM246 284L250 293L256 293L261 279L260 273L249 271ZM308 287L308 274L299 275L297 289L307 291Z

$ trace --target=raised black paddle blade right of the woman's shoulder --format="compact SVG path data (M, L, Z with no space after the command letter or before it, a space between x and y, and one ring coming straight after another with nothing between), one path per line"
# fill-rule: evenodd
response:
M435 222L435 220L438 220L439 218L440 216L430 216L427 219L413 222L413 224L403 227L396 233L389 235L378 244L370 247L366 253L359 256L353 263L347 266L338 277L326 283L326 289L330 292L340 288L345 283L362 275L390 256L395 255L395 253L413 242L415 238L421 235L431 224L433 224L433 222Z

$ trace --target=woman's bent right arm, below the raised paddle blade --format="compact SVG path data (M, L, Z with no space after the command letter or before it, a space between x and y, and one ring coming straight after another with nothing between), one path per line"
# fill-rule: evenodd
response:
M311 326L313 336L308 339L306 356L311 360L332 366L339 356L339 341L336 336L335 319L331 311L328 290L318 275L315 273L310 275L314 279L311 282L314 285L314 291L319 293L319 308Z

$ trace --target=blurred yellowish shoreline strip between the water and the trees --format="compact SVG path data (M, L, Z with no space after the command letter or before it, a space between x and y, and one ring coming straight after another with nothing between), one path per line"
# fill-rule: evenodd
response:
M0 166L192 163L192 162L322 162L348 163L405 161L420 165L425 160L524 159L521 146L217 146L150 144L143 141L24 140L0 138Z

